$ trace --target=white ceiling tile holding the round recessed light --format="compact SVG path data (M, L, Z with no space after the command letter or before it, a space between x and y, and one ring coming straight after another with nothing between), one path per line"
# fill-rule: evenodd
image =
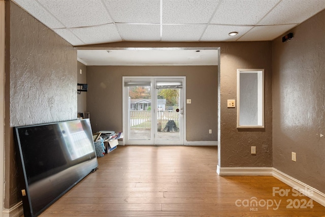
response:
M236 41L253 26L209 25L201 41ZM229 36L231 32L238 32L237 36Z

